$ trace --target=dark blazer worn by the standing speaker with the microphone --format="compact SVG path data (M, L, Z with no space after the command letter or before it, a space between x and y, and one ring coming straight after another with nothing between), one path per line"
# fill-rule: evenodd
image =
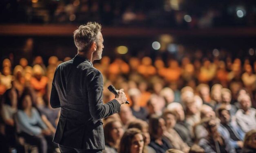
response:
M120 111L115 99L102 102L102 74L76 55L54 74L50 104L61 107L53 142L76 149L105 149L102 118Z

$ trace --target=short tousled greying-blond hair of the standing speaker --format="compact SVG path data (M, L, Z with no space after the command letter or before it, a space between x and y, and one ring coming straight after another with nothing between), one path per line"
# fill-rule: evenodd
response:
M74 31L74 42L78 52L85 52L93 42L98 44L97 35L101 31L101 25L97 22L88 22L87 24L79 26Z

